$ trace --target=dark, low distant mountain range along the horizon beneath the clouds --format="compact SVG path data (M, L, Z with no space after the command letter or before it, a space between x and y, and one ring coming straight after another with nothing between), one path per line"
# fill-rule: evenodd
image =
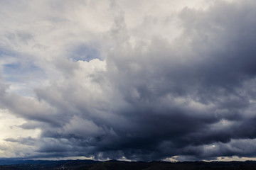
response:
M240 170L256 162L98 162L92 160L33 161L0 159L0 170Z

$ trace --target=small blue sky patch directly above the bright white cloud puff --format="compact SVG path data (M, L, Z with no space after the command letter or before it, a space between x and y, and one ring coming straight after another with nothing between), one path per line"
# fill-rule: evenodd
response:
M75 47L73 47L68 55L68 58L77 62L78 60L89 62L93 59L99 59L100 58L100 50L98 50L97 47L93 45L87 45L87 44L80 44Z

